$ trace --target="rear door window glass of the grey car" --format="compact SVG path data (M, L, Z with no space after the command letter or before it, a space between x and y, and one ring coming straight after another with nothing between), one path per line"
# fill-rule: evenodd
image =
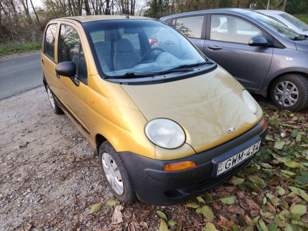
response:
M201 38L203 18L203 15L177 18L175 28L186 37Z

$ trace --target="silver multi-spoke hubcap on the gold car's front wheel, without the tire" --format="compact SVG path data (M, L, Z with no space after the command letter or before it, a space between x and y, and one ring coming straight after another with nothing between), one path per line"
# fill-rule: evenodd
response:
M124 192L124 186L120 170L108 153L102 154L102 163L106 178L111 185L112 189L119 195Z

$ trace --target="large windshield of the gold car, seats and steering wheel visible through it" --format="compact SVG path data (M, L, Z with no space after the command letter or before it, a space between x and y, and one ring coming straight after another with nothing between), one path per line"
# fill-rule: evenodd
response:
M177 30L158 20L102 20L83 27L105 76L146 77L171 69L187 71L208 61Z

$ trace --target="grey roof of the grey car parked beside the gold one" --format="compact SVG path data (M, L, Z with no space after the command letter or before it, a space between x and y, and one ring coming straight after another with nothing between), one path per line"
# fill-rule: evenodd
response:
M187 13L178 13L173 14L165 17L161 17L160 20L166 20L169 18L180 17L180 16L188 16L188 15L195 15L195 14L204 14L204 13L230 13L235 12L237 14L247 14L251 13L252 9L242 9L242 8L218 8L218 9L205 9L205 10L198 10L192 11Z

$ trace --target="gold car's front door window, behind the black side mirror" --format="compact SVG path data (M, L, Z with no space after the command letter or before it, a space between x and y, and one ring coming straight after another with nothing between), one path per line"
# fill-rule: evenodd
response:
M77 31L73 27L68 25L61 25L58 53L59 53L58 54L59 63L62 62L75 63L76 76L81 79L87 78L85 58L80 44L80 39Z

